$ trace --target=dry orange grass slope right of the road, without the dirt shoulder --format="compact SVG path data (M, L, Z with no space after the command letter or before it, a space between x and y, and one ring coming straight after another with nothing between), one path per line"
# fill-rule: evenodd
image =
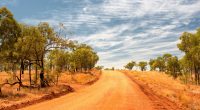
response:
M155 94L167 97L169 100L181 104L186 110L200 110L200 87L185 85L167 74L160 72L124 71L134 79L141 81Z

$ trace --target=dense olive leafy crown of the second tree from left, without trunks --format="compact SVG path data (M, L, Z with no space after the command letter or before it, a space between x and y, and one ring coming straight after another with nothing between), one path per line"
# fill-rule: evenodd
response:
M15 43L15 54L21 60L36 59L35 52L41 55L40 50L44 47L45 39L41 37L37 27L23 24L20 27L22 33Z

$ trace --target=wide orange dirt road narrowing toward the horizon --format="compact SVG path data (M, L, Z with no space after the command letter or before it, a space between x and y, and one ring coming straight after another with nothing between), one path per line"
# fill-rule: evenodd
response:
M103 71L95 84L23 110L153 110L138 85L117 71Z

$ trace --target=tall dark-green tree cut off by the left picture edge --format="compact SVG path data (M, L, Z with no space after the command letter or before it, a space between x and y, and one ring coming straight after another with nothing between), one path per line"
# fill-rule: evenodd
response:
M14 74L17 64L14 44L20 34L20 26L13 14L6 7L0 8L0 58L9 65Z

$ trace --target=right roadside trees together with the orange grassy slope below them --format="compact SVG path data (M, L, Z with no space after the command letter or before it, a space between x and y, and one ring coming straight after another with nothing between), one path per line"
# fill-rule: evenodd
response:
M184 53L181 58L165 53L150 59L148 63L131 61L124 67L128 70L139 67L141 71L122 72L143 88L144 93L147 93L152 101L156 100L155 97L160 97L160 101L155 102L155 106L161 104L168 108L170 102L173 102L180 109L199 110L200 29L195 33L184 32L180 36L177 47ZM148 65L150 71L145 71ZM155 96L151 97L151 95Z

